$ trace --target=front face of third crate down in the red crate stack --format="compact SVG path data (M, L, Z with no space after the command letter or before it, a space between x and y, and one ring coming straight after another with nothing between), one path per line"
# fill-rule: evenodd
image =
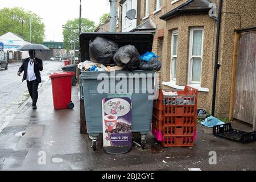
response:
M163 117L164 126L188 126L196 125L195 116L172 116L172 117Z

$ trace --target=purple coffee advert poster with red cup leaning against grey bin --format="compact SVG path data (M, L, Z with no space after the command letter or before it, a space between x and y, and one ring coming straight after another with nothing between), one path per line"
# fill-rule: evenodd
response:
M102 100L102 127L104 147L131 146L130 98Z

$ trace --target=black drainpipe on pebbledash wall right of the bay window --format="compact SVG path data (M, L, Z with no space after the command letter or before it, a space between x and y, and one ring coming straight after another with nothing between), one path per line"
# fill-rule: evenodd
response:
M215 114L215 101L216 101L216 87L217 87L217 72L220 68L218 64L218 50L220 45L220 27L221 27L221 10L222 10L222 0L218 3L218 19L217 19L217 38L216 38L216 49L215 49L215 61L214 61L214 78L213 78L213 92L212 92L212 115Z

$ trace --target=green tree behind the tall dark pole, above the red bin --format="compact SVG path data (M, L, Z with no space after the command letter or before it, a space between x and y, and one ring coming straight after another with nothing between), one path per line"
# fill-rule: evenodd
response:
M76 49L79 48L79 18L68 20L63 28L63 42L66 49L73 49L75 40ZM73 29L75 28L75 29ZM81 19L81 32L93 32L96 26L95 23L87 18Z

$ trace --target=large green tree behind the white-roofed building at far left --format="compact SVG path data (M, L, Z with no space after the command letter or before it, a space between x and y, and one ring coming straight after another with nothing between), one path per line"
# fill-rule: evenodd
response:
M13 32L23 36L24 39L30 40L30 18L31 18L31 42L43 43L44 40L44 23L42 19L22 8L3 8L0 10L0 35L6 32Z

